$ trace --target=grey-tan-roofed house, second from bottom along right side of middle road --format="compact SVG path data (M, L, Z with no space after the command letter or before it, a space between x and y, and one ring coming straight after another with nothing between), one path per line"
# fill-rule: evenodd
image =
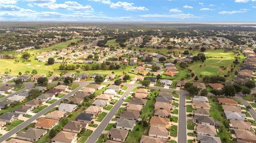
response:
M124 130L132 130L135 126L135 120L117 119L116 128Z

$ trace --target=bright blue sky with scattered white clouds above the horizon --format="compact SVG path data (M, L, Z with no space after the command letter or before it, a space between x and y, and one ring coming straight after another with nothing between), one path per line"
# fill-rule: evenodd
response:
M256 0L0 0L0 21L256 22Z

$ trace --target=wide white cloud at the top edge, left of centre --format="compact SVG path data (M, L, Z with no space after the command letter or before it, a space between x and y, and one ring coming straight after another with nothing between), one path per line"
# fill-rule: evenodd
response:
M70 11L93 11L92 6L79 4L74 1L67 1L63 4L57 3L44 3L44 4L37 4L38 6L45 7L51 10L70 10Z

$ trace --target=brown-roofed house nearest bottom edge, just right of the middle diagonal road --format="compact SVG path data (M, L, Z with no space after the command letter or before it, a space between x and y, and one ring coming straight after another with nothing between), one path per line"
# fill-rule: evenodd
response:
M108 134L111 140L124 142L128 135L128 132L128 130L111 128Z

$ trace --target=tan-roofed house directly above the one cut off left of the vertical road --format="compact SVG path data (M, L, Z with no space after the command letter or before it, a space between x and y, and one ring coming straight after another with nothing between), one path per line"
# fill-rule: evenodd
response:
M168 139L169 131L165 127L150 126L148 136L162 139Z

